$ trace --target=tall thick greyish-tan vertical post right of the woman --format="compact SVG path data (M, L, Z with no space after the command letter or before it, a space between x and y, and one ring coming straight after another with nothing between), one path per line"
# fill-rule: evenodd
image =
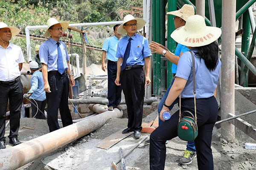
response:
M235 35L236 0L222 1L221 47L221 119L235 113ZM229 142L235 140L235 127L229 122L221 124L221 135Z

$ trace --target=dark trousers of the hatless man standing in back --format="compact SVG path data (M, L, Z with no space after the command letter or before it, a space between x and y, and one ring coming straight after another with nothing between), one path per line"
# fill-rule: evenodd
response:
M121 102L122 86L117 86L116 80L116 64L108 62L108 107L115 108Z

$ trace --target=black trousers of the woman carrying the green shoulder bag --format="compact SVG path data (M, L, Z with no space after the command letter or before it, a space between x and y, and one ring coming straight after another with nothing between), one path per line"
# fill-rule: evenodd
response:
M212 129L218 116L218 103L214 96L196 99L198 136L195 139L195 148L198 161L198 170L213 170L212 158ZM181 111L194 111L194 98L181 99ZM182 115L187 116L187 115ZM150 170L164 170L166 161L166 140L177 137L179 111L162 123L150 135Z

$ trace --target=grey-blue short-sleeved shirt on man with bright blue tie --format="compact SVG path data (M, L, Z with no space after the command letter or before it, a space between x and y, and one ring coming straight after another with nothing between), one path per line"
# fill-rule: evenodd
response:
M64 42L60 42L61 54L64 64L64 69L67 70L67 61L69 60L67 48ZM39 48L39 56L41 63L47 65L47 71L58 71L58 46L57 41L50 37L48 40L43 42Z

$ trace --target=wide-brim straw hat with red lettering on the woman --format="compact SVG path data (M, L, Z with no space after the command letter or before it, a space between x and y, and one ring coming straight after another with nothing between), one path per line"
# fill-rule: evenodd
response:
M221 28L206 26L201 15L193 15L186 25L172 32L171 37L176 42L187 47L208 45L221 36Z

